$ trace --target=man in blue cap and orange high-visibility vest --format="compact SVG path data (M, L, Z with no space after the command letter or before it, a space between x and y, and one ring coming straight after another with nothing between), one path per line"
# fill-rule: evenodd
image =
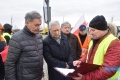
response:
M85 25L80 25L79 27L79 33L76 34L78 40L79 40L79 44L82 48L82 54L80 57L83 57L88 50L88 44L91 40L91 37L89 35L87 35L87 30L86 30L86 26Z

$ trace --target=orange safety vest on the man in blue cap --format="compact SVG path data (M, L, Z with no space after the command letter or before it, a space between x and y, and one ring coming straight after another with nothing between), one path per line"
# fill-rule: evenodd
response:
M83 45L82 45L81 39L79 37L79 34L76 34L76 36L77 36L79 44L80 44L80 46L82 48L82 54L81 54L80 57L83 57L87 53L87 51L88 51L88 44L91 41L91 37L87 36L86 39L85 39L85 41L84 41L84 43L83 43Z

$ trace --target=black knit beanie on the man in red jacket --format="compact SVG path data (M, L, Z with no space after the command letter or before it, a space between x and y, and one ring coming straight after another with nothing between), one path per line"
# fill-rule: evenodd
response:
M98 15L96 17L94 17L90 23L89 23L89 27L91 28L95 28L98 30L107 30L107 22L105 20L105 17L103 15Z

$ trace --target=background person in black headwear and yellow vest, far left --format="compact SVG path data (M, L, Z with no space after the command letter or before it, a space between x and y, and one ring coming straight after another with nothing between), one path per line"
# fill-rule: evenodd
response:
M4 24L4 33L3 33L3 37L6 40L6 44L9 44L9 40L11 39L11 33L12 33L12 25L10 24Z

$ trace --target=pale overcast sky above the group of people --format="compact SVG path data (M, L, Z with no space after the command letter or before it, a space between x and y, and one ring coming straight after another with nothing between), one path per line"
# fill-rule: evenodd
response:
M89 21L96 15L104 15L108 22L120 25L120 0L49 0L52 20L60 24L68 21L72 26L84 15ZM0 0L0 23L10 23L14 28L23 28L24 16L29 11L38 11L43 16L43 0Z

